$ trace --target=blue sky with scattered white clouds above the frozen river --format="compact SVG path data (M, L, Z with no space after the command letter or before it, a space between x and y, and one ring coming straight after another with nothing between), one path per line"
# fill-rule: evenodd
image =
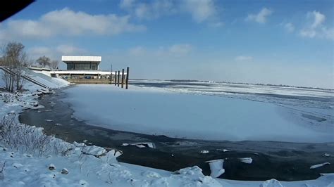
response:
M132 79L334 89L334 1L41 0L0 23L9 41L33 60L102 56Z

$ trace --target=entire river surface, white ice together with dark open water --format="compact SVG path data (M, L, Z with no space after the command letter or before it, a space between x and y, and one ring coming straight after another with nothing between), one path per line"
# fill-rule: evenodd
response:
M206 89L197 89L204 86ZM243 85L233 86L237 92L249 92ZM209 92L211 87L216 87L215 94ZM47 134L69 142L86 139L97 146L120 149L124 153L118 157L120 162L169 171L198 165L209 174L206 161L224 158L223 179L290 181L333 173L333 165L309 169L318 163L334 162L333 157L323 156L334 155L330 92L311 90L312 94L305 96L307 91L259 86L253 93L225 93L228 85L220 86L220 91L217 87L180 82L132 82L129 90L113 85L72 86L41 98L39 102L46 108L25 110L20 122L44 127ZM266 89L273 93L268 95ZM256 90L261 94L254 93ZM249 124L255 128L249 129ZM274 127L264 130L268 124ZM217 126L221 127L213 128ZM179 134L186 139L156 136L161 134ZM202 141L192 137L276 141ZM324 141L332 143L314 143ZM121 146L140 142L154 143L155 148ZM201 150L209 153L202 154ZM240 157L252 157L252 165L240 162Z

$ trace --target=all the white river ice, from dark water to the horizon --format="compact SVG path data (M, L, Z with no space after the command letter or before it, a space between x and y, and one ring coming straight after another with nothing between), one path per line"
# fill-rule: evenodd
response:
M75 118L114 130L218 141L334 142L328 90L140 81L129 90L79 85L66 94Z

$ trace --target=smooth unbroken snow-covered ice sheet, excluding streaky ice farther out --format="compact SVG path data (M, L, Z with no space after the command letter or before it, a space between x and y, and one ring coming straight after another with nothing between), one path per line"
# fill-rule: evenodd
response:
M285 107L131 86L66 89L74 116L106 128L181 138L229 141L333 142L333 125L311 126Z

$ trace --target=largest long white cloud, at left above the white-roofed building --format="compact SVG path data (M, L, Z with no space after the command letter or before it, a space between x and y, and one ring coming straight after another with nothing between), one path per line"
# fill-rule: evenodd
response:
M9 20L2 25L1 37L47 38L56 35L78 36L84 34L114 35L123 32L146 30L143 25L130 23L130 16L90 15L69 8L51 11L38 20Z

